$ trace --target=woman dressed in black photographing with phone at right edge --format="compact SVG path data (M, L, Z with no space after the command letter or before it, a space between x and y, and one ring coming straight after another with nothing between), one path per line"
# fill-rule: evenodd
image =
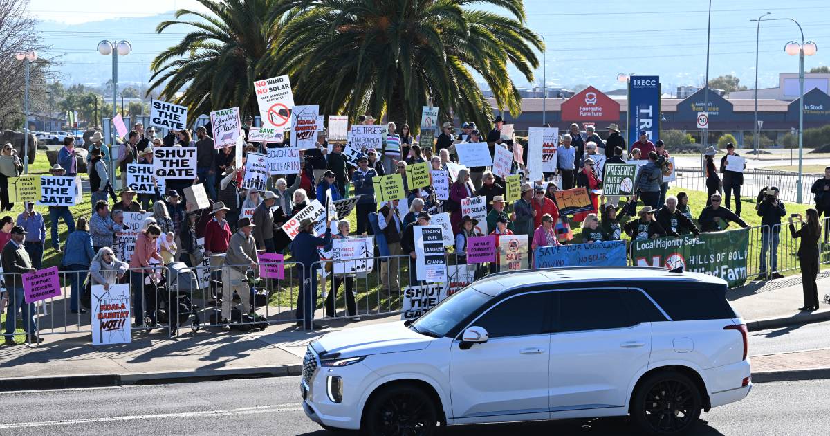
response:
M801 228L795 229L793 218L798 218ZM822 225L818 222L818 210L807 209L807 223L804 223L801 214L793 213L789 216L789 233L793 238L801 238L798 246L798 264L801 267L801 282L804 291L804 306L799 311L818 310L818 238L822 234Z

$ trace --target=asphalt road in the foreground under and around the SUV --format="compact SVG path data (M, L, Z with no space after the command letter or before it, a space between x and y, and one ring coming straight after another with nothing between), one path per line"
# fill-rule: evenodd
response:
M298 377L0 395L0 434L326 434L300 409ZM830 380L756 385L712 409L692 434L827 434ZM804 413L808 411L808 413ZM626 419L452 428L450 435L634 435Z

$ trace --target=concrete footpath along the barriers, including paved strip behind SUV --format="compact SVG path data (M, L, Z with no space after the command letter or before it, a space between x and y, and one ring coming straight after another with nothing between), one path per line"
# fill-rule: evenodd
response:
M830 274L823 274L818 289L819 298L830 291ZM727 296L751 331L830 320L830 305L824 301L819 311L798 311L799 277L750 283ZM45 341L37 347L0 345L0 391L299 375L311 340L329 331L398 319L322 321L321 331L302 331L293 323L248 333L214 327L193 333L184 327L172 340L166 330L134 331L132 342L123 345L93 346L89 333L43 335ZM752 362L755 382L830 378L830 349L755 356Z

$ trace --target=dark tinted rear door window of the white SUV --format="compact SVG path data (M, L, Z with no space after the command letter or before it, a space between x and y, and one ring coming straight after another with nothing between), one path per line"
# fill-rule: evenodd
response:
M618 329L639 324L620 295L623 289L559 291L559 316L554 331Z

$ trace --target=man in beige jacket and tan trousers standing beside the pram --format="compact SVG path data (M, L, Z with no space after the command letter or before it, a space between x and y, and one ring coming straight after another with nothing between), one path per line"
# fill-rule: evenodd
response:
M236 291L239 299L242 300L242 313L254 316L256 312L251 307L251 291L246 278L248 268L256 274L259 273L259 259L256 257L256 242L251 231L256 228L251 223L251 218L242 218L237 223L237 233L233 233L227 244L225 254L225 265L222 267L222 330L229 331L228 320L231 319L231 302L233 292Z

